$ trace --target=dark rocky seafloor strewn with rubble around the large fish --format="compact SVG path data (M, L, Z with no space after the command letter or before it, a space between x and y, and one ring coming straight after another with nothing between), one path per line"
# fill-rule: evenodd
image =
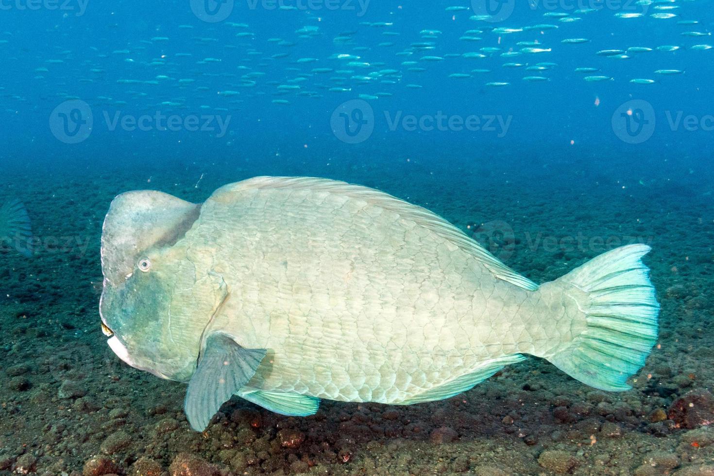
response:
M176 161L7 171L0 202L24 201L36 250L30 259L0 251L0 474L714 475L711 186L661 173L586 163L454 173L403 159L379 168ZM588 388L531 358L456 397L408 407L324 401L296 418L234 398L206 432L193 432L185 385L129 368L101 334L101 223L122 191L201 201L263 174L381 188L478 231L536 282L633 237L648 243L658 345L625 393Z

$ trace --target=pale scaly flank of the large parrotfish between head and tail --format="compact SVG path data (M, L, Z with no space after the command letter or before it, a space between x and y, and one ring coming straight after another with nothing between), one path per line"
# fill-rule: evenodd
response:
M258 368L249 383L253 388L307 388L310 395L331 400L400 402L473 371L482 360L518 353L532 342L528 328L540 328L513 319L528 299L526 290L493 278L428 228L413 221L405 226L408 218L381 204L312 189L244 186L218 192L232 195L228 205L208 208L209 201L202 214L216 242L233 243L233 249L222 248L228 254L218 260L231 262L239 254L241 261L263 263L260 271L258 265L241 264L224 279L238 293L251 281L260 283L263 292L250 295L258 296L267 328L243 338L243 323L263 316L241 313L230 302L221 310L224 330L240 336L241 345L276 350L270 371ZM213 223L241 226L221 230ZM311 241L314 248L308 248ZM289 243L299 245L286 248ZM313 253L320 258L306 259ZM306 284L287 291L288 283L296 282ZM248 299L240 300L245 305ZM326 305L330 300L337 307ZM291 301L306 306L286 308ZM366 344L371 342L379 346ZM457 349L471 349L473 355ZM430 358L435 352L446 360L435 362ZM373 378L372 362L388 363L379 378Z

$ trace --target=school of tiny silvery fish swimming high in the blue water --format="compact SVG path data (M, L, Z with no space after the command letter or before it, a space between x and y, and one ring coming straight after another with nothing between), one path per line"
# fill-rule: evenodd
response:
M620 81L638 85L674 81L672 76L685 71L670 66L675 55L683 51L701 52L713 48L705 41L711 32L707 23L690 19L689 5L699 0L639 0L635 6L641 12L608 9L575 9L546 11L542 19L528 25L503 25L491 17L474 15L467 6L448 6L444 14L459 24L468 19L471 28L456 31L421 29L408 31L408 24L394 21L355 21L355 28L336 36L325 32L323 26L330 18L318 16L313 11L301 11L306 26L290 31L281 37L266 38L251 31L246 23L223 21L208 31L221 30L235 39L231 44L218 37L203 37L197 31L206 30L205 24L178 26L196 48L193 52L177 51L183 41L170 36L147 36L146 39L127 42L124 49L102 47L101 41L88 45L86 51L73 51L61 46L71 41L69 33L63 41L50 44L37 56L21 48L13 49L18 39L11 31L0 36L0 52L6 64L16 61L36 60L34 80L52 84L57 98L54 101L81 98L100 106L122 107L139 104L146 110L194 107L199 102L201 110L220 113L238 110L248 98L266 98L266 102L288 106L301 98L320 98L343 95L345 99L361 98L367 101L394 96L403 89L423 88L430 82L420 81L426 71L443 74L444 81L453 81L453 87L476 86L504 88L512 84L514 74L521 75L525 83L547 83L552 79L575 78L578 81ZM464 2L466 4L466 2ZM281 12L282 13L282 12ZM288 14L288 12L285 12ZM650 29L652 24L670 22L678 29L677 44L601 44L602 39L583 38L578 24L595 21L597 16L615 16L618 21L631 22L633 29ZM533 14L533 18L540 14ZM256 31L258 31L256 29ZM228 33L230 32L230 33ZM378 39L379 41L375 41ZM303 56L310 51L311 41L320 46L331 45L333 53L324 56ZM621 39L618 41L622 41ZM653 35L653 42L655 35ZM598 43L598 44L596 44ZM670 43L670 42L668 42ZM104 41L116 45L116 41ZM201 49L201 46L205 48ZM561 69L560 55L577 51L583 65L573 71ZM196 53L206 51L206 55ZM613 61L633 61L640 55L658 55L662 69L636 71L622 77L620 66ZM711 61L702 56L701 61ZM386 61L388 60L388 61ZM558 71L560 70L560 71ZM620 71L617 74L610 71ZM572 78L569 76L575 73ZM216 79L221 88L216 91ZM86 97L83 85L115 83L116 95ZM79 85L79 87L78 87ZM27 98L11 93L0 86L0 93L8 99L6 112L15 111ZM84 93L83 97L78 96Z

